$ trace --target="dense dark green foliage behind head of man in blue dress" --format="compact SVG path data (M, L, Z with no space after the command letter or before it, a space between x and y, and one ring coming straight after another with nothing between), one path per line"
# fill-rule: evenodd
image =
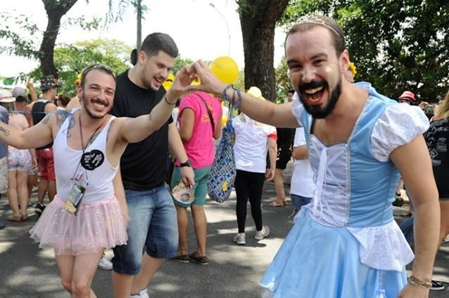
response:
M296 0L280 25L307 13L340 22L358 74L396 98L404 90L434 102L449 89L449 2L438 0Z

